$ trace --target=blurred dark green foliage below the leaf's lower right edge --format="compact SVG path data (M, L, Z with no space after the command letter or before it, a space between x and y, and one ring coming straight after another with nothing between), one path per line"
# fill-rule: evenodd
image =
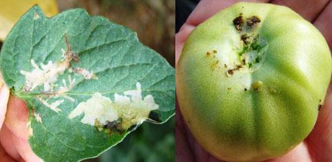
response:
M174 117L162 125L144 123L99 159L101 162L175 161L174 124Z

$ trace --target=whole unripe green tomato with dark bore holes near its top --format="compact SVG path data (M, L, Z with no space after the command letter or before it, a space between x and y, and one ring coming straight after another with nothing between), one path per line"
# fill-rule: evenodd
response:
M176 93L205 150L226 161L261 161L309 135L331 71L329 46L300 15L236 3L191 32L176 67Z

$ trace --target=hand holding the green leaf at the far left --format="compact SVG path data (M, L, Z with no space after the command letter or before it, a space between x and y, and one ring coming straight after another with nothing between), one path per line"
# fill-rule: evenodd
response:
M10 95L1 75L0 128L0 161L41 161L28 143L28 108L23 100Z

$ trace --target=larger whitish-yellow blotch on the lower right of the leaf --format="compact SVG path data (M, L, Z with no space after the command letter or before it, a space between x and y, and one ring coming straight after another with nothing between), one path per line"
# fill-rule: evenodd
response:
M149 116L150 111L158 109L152 95L142 98L141 84L136 83L136 89L125 91L124 95L114 94L114 101L110 98L94 93L86 102L81 102L70 113L69 118L73 119L84 113L81 119L83 124L94 126L98 120L101 124L107 121L112 122L121 118L121 128L126 130L132 125L140 124Z

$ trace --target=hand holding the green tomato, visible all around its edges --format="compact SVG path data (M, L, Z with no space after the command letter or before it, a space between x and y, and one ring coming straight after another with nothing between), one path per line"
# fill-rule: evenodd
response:
M191 12L186 23L176 34L176 62L180 57L183 44L194 28L216 14L216 12L236 3L236 0L201 0L195 10ZM329 0L256 0L251 2L275 3L286 5L298 12L304 19L310 21L322 32L330 50L332 49L332 32L329 30L332 20L332 1ZM267 160L278 161L332 161L332 82L326 93L324 105L318 114L318 120L309 136L302 141L291 152L278 159ZM187 128L183 117L176 104L176 161L220 161L205 151L194 139L189 128Z

